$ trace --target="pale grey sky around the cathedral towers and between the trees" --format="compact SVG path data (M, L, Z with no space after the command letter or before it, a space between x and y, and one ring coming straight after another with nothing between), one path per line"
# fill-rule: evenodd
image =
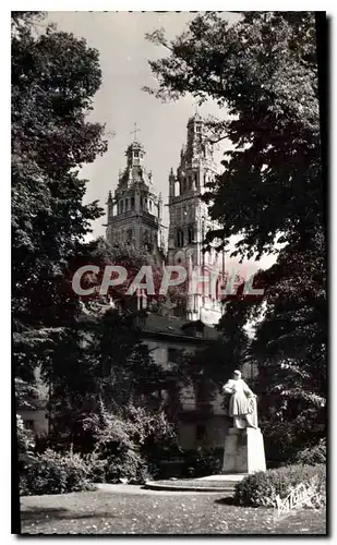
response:
M195 17L192 12L49 12L49 21L58 29L71 32L86 39L89 47L99 51L103 83L94 99L89 119L106 124L111 135L108 152L93 164L86 165L82 175L88 179L85 202L99 201L106 209L108 192L117 186L119 171L125 166L124 152L132 142L134 123L140 128L137 138L146 149L145 164L153 172L155 190L168 202L168 174L179 166L180 149L186 138L188 120L195 112L195 100L186 96L176 102L163 104L145 93L143 86L155 87L148 60L166 55L164 48L145 38L146 33L164 27L166 36L173 39ZM237 14L224 13L236 22ZM226 110L214 101L198 108L202 116L226 118ZM217 154L230 147L221 143ZM106 216L93 223L93 237L105 234ZM168 208L164 207L164 223L168 226ZM267 257L266 264L269 265ZM258 264L265 266L263 261Z

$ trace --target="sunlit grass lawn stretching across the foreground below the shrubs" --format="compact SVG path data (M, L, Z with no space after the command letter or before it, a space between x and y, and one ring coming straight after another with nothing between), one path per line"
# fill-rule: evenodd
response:
M122 491L122 488L121 488ZM325 534L324 510L233 507L218 493L83 492L21 498L24 534Z

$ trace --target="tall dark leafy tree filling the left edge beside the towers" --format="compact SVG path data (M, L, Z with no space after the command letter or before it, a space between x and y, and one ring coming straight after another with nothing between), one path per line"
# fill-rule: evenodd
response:
M79 312L68 278L83 252L97 203L83 204L80 168L106 150L104 126L87 120L101 82L84 39L12 14L12 308L16 374L59 342ZM38 21L38 23L37 23ZM36 24L39 26L36 27ZM43 28L43 29L41 29ZM32 375L32 372L29 372Z

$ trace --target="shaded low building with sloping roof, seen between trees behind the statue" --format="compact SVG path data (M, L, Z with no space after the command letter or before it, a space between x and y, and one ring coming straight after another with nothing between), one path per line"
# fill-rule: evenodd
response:
M142 323L142 335L154 362L166 372L165 382L158 384L152 396L156 397L155 402L160 399L161 407L177 422L179 446L184 450L202 445L224 447L231 420L224 409L222 395L210 392L202 377L200 382L181 385L173 371L177 359L184 354L188 360L196 351L205 350L217 341L218 331L200 320L148 313Z

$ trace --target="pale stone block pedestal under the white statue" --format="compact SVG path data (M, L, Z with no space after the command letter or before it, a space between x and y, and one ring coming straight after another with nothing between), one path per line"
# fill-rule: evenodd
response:
M266 470L261 429L230 427L225 439L222 473L254 473Z

